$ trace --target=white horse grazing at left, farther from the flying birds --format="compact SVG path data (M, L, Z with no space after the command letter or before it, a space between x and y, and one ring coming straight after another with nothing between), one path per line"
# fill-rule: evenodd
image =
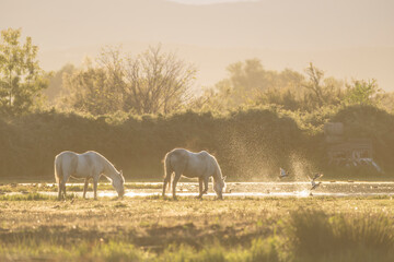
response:
M97 199L97 183L101 175L112 181L119 196L125 194L125 178L117 171L113 164L94 151L77 154L65 151L55 157L55 179L59 184L58 199L66 196L66 182L70 177L84 178L83 198L85 198L89 179L93 178L94 199Z

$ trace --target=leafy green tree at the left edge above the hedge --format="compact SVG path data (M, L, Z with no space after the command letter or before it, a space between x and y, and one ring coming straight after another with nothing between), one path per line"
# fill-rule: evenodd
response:
M47 78L38 66L38 47L26 37L20 43L21 29L1 31L0 107L4 111L25 112L38 106Z

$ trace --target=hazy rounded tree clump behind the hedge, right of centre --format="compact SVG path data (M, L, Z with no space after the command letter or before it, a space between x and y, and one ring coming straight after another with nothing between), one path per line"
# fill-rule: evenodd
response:
M199 99L204 107L231 109L247 104L280 104L296 109L293 100L300 92L304 76L290 69L281 72L266 70L258 59L232 63L227 68L229 78L206 91ZM286 95L283 97L282 95ZM288 97L294 96L294 97Z

